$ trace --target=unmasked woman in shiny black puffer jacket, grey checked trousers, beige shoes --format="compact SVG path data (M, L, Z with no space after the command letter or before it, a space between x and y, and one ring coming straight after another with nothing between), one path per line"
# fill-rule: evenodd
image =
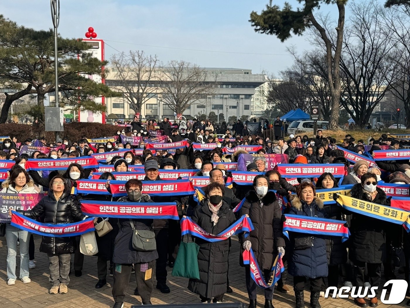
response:
M85 218L80 204L70 188L61 176L53 177L50 181L50 190L40 202L30 210L18 211L32 219L37 219L44 214L44 223L53 225L73 223ZM94 222L97 221L95 218ZM50 268L50 294L67 293L67 285L70 282L71 253L75 250L74 237L43 237L40 251L47 253Z

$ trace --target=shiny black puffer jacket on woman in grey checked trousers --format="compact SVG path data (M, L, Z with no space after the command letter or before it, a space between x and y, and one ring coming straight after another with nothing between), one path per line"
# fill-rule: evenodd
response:
M44 223L52 225L74 223L85 218L80 204L73 195L70 195L69 191L64 191L59 200L56 200L50 190L48 195L43 197L35 207L27 211L18 212L32 219L37 219L44 214ZM75 237L42 237L40 251L59 255L73 253L75 247Z

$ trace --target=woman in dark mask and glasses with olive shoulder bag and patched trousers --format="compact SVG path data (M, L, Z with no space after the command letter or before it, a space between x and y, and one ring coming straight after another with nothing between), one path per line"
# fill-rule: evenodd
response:
M150 196L141 193L142 182L138 179L130 179L125 183L127 197L118 199L118 202L153 202ZM131 218L131 217L130 217ZM131 225L131 222L133 226ZM130 244L132 241L133 228L135 230L153 231L153 219L119 219L121 228L115 238L114 257L114 285L112 287L112 296L114 298L114 308L124 306L125 290L130 282L132 264L135 264L135 278L137 290L143 305L151 304L151 295L154 287L155 259L158 258L158 252L154 251L136 251ZM157 241L157 248L161 245ZM148 277L146 271L152 271Z

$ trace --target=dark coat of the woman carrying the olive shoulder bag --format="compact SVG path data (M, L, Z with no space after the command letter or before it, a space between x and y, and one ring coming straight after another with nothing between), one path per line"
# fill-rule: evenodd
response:
M120 202L130 202L127 197L119 198ZM147 194L141 195L141 202L153 202ZM118 264L148 263L158 258L157 250L136 251L132 247L132 228L129 219L118 219L120 230L114 241L113 262ZM132 219L136 230L153 231L153 219Z

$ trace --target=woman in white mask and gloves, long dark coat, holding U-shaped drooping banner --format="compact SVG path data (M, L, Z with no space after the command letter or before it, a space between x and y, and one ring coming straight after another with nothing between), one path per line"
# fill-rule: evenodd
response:
M258 265L263 271L265 281L269 281L272 276L271 269L276 255L278 253L282 253L282 256L285 255L285 240L282 237L282 221L280 220L282 212L276 194L273 191L268 191L268 183L269 179L266 176L257 175L253 179L253 190L246 195L244 205L240 210L240 216L248 215L255 228L246 238L243 233L239 234L241 243L239 258L241 266L245 267L249 308L256 308L257 306L257 285L251 278L249 265L243 264L243 251L249 251L252 248ZM264 308L273 308L273 288L274 286L264 289Z

